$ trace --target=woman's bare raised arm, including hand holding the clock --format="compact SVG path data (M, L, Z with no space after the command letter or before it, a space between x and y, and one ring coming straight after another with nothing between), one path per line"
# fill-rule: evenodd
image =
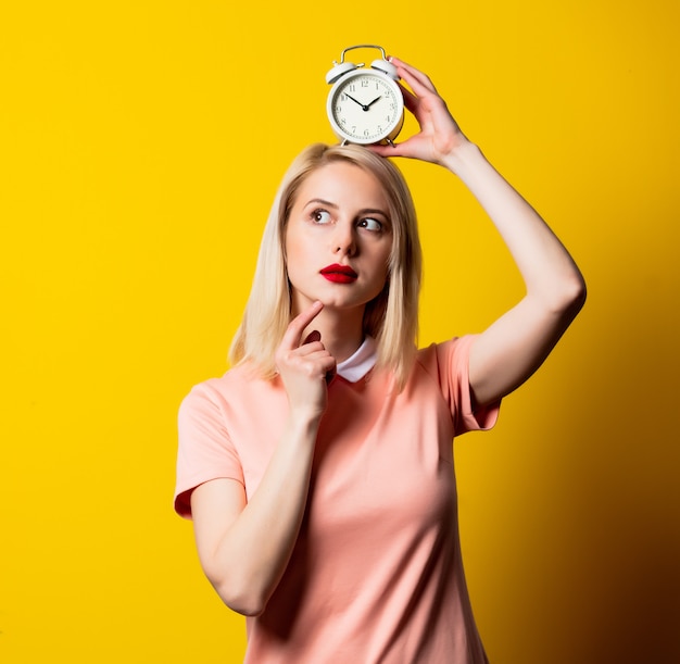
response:
M541 216L461 131L424 73L392 59L406 108L420 130L404 142L375 146L383 156L440 164L457 175L487 211L522 276L526 295L480 336L470 351L477 403L490 403L521 385L545 360L585 301L576 263Z

